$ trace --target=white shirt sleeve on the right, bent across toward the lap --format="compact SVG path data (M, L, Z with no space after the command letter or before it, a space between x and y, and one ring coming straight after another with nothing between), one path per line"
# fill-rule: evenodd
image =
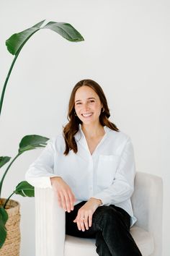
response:
M102 200L103 205L110 205L128 200L133 195L135 178L135 159L130 138L122 151L120 163L112 184L93 197Z

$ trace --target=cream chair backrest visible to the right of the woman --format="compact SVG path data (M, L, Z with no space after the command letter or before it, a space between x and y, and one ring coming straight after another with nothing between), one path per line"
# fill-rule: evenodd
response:
M161 177L137 172L131 198L136 225L151 232L154 237L154 256L161 256L163 182Z

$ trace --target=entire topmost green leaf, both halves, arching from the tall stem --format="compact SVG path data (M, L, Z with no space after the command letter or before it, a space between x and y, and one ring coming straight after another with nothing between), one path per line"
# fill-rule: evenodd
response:
M64 22L48 22L44 27L41 27L42 23L38 22L36 25L28 28L19 33L15 33L9 39L6 40L6 46L10 54L16 55L21 49L22 46L27 42L27 40L38 30L48 28L55 31L59 35L63 36L69 41L79 42L84 40L82 35L70 24Z

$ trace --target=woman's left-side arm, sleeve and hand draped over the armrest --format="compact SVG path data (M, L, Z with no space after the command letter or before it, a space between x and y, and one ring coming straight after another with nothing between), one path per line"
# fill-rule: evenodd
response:
M49 140L37 160L30 165L25 178L34 187L52 187L58 197L58 204L68 213L73 210L75 197L64 180L53 173L55 159L55 140Z

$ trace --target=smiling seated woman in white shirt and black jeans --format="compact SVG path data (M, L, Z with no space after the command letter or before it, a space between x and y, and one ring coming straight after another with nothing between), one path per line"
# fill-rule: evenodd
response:
M130 235L133 145L109 116L97 82L78 82L63 135L48 142L26 179L35 187L53 187L66 211L66 234L95 237L101 256L141 256Z

